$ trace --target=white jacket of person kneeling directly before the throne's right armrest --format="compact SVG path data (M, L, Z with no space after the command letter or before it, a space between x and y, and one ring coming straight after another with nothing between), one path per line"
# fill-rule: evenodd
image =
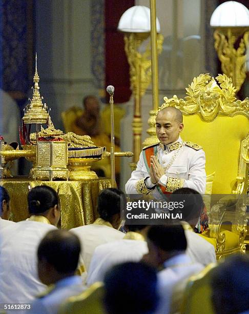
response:
M186 254L191 258L192 262L200 263L204 266L216 263L215 247L209 241L203 239L188 223L185 223L188 229L184 227L185 237L188 243Z

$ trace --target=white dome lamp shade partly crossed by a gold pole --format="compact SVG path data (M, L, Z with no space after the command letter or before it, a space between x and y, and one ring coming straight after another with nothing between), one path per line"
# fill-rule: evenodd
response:
M151 31L150 9L144 6L134 6L122 14L118 30L130 33L147 33ZM160 23L156 18L156 31L160 32Z

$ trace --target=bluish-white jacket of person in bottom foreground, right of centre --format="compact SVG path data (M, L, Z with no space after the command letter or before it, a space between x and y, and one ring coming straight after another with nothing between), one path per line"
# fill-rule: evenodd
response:
M157 275L160 301L155 314L176 313L179 311L188 279L204 267L199 263L192 263L185 253L169 259L163 266L164 269Z

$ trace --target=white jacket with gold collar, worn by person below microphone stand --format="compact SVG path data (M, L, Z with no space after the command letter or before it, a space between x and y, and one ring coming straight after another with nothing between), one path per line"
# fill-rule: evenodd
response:
M120 240L124 233L112 227L109 222L98 218L93 224L71 229L80 240L80 257L88 271L95 248L107 242Z

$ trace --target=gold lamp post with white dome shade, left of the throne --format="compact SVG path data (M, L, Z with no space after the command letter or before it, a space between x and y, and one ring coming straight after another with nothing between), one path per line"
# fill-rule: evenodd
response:
M130 65L130 82L134 96L133 116L133 163L132 170L136 168L141 151L141 97L151 83L151 55L150 45L144 52L141 51L143 41L147 40L151 32L150 9L144 6L134 6L124 12L119 20L118 30L124 32L124 49ZM157 42L157 53L162 50L163 36L159 34L160 24L155 16L156 31L151 40Z

